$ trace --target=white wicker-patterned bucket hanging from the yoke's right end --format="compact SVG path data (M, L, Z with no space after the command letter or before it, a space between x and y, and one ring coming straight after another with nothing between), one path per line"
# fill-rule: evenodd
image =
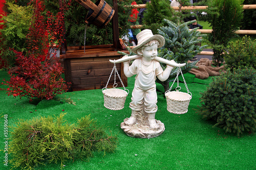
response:
M184 114L187 112L189 102L192 98L191 95L180 91L167 91L165 96L168 112L174 114Z

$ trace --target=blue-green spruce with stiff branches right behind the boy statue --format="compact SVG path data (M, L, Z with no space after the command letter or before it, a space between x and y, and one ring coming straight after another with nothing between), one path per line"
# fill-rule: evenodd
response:
M188 21L185 23L176 24L170 20L164 19L168 24L168 27L161 27L158 29L159 35L162 35L165 39L165 45L160 48L158 56L167 60L174 60L177 63L187 63L188 60L193 58L195 55L203 51L204 46L199 46L199 43L203 40L201 37L206 36L206 34L201 34L198 28L189 30L188 26L195 21ZM183 74L188 72L191 68L196 68L196 63L187 63L184 67L181 67ZM161 64L163 69L166 65ZM169 82L173 80L177 74L178 68L174 68L170 73L169 78L161 82L157 80L160 84L164 86L164 90L169 89Z

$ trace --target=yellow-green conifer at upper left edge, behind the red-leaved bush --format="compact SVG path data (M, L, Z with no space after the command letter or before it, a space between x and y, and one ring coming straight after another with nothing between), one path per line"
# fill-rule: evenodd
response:
M12 67L15 64L15 53L9 48L19 52L27 52L26 36L29 32L32 21L32 6L20 7L15 4L6 4L9 14L0 15L4 22L3 29L0 29L0 57L5 62L5 67Z

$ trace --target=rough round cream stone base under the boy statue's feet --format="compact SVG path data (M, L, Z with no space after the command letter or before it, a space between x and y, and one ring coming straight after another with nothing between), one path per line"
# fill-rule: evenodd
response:
M123 123L121 123L121 129L126 133L126 135L131 137L138 137L138 138L153 138L161 135L165 130L164 124L160 120L156 120L157 125L159 128L151 129L147 125L139 125L138 123L133 124L132 126L128 126L124 124L124 122L128 118L125 118Z

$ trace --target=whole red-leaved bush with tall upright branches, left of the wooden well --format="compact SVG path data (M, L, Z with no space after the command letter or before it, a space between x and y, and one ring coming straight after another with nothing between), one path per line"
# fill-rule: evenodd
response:
M20 98L24 96L30 101L33 98L52 100L57 94L66 92L68 90L67 84L69 84L65 84L61 78L63 69L56 57L56 52L52 53L49 50L54 43L56 44L55 48L58 48L62 42L63 11L65 10L60 9L56 16L47 12L48 19L45 19L41 14L44 11L42 1L32 0L31 3L35 10L32 25L27 35L29 51L23 54L13 50L16 54L18 69L15 74L9 72L10 81L5 81L5 85L9 88L4 90L7 91L8 95L19 96Z

